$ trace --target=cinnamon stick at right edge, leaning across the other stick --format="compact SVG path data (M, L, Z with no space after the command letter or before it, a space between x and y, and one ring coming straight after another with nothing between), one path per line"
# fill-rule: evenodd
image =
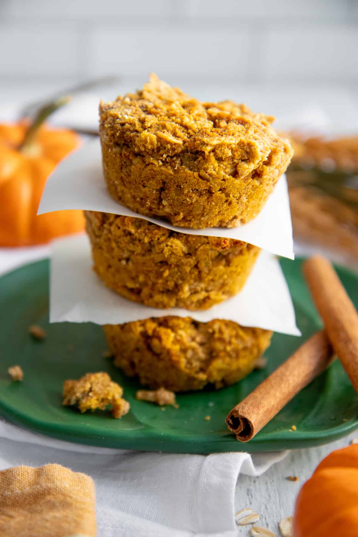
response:
M358 393L357 310L327 259L311 257L304 263L303 273L327 336Z

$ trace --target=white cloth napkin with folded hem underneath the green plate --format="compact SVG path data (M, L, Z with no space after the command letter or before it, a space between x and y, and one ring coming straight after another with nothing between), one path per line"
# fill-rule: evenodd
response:
M122 451L0 422L0 469L57 462L93 478L98 537L236 537L235 500L247 507L239 474L260 475L286 453Z

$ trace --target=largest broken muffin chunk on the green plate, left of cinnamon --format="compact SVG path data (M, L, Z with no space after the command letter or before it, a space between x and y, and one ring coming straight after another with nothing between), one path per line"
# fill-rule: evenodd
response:
M121 418L130 408L122 394L122 387L113 382L107 373L87 373L81 379L64 381L62 404L75 406L81 412L105 410L107 405L112 405L112 416Z

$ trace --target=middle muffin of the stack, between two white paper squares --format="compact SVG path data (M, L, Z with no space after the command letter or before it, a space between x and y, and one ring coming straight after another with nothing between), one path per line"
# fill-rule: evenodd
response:
M129 300L207 309L243 287L260 252L228 238L188 235L140 218L85 211L94 270Z

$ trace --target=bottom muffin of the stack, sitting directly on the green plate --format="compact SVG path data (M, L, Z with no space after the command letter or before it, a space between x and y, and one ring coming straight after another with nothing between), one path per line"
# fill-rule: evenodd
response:
M272 332L232 321L157 317L104 326L114 365L141 384L173 391L221 388L244 378L267 349Z

